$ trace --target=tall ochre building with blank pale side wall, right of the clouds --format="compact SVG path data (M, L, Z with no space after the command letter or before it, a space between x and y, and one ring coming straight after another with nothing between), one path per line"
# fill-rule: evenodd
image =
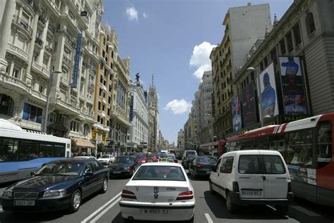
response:
M231 85L237 70L245 65L247 51L256 42L264 39L266 27L271 27L268 4L229 8L223 20L225 34L221 44L210 54L214 79L214 135L223 139L231 132Z

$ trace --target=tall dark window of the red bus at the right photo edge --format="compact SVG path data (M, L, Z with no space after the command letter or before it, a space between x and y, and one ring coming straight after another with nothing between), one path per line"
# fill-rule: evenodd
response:
M317 135L317 167L321 168L330 163L330 160L332 160L332 125L330 125L330 122L319 123Z

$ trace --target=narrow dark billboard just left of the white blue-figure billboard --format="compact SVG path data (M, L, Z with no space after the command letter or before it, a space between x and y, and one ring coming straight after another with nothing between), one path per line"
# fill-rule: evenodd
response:
M242 101L242 124L245 127L256 124L256 107L254 96L253 82L247 85L245 89L241 91Z

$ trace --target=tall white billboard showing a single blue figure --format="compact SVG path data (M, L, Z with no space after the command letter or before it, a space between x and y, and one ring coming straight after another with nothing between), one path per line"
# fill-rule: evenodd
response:
M260 91L262 116L278 115L278 102L276 94L275 72L273 63L268 65L260 74ZM261 119L261 117L260 117Z

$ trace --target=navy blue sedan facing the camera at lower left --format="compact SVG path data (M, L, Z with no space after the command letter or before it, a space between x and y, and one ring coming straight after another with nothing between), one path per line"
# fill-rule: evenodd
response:
M44 165L30 179L9 186L0 197L3 210L76 212L82 199L108 189L109 170L97 160L75 158Z

